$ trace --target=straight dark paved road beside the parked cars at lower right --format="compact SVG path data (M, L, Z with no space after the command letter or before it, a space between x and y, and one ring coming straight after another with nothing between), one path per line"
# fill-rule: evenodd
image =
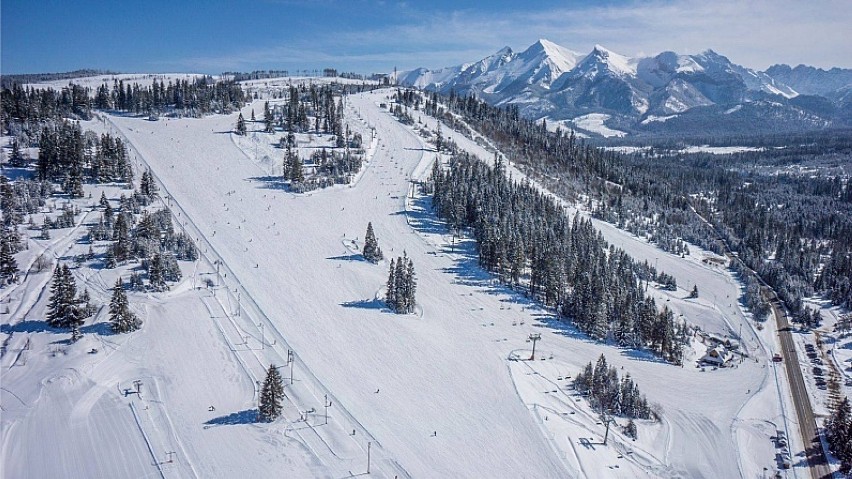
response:
M796 409L799 432L802 435L802 444L805 447L805 455L810 465L811 477L813 479L830 478L832 477L831 468L828 467L825 451L823 451L820 442L811 399L805 386L805 379L802 376L787 314L774 291L765 287L764 294L770 300L769 304L772 306L772 313L775 315L775 322L778 326L778 336L781 339L781 351L787 369L787 379L790 382L790 392L793 395L793 405Z

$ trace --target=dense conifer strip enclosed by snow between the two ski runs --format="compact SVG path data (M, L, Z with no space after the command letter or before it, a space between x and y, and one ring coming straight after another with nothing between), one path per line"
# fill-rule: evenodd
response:
M659 310L644 289L658 273L608 245L591 221L570 218L528 183L510 180L465 153L431 177L437 214L451 228L470 228L480 265L531 298L556 308L592 338L647 348L681 363L690 328Z

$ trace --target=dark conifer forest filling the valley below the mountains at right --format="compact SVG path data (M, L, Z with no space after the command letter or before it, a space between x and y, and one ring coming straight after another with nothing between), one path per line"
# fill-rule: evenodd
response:
M653 148L623 155L549 131L514 107L413 90L396 98L458 131L472 127L552 192L664 250L689 254L689 242L722 253L726 245L742 260L732 266L745 281L759 275L796 318L804 317L802 298L813 294L852 306L852 185L842 179L848 131L731 155L653 155ZM752 291L746 303L765 308L759 288Z

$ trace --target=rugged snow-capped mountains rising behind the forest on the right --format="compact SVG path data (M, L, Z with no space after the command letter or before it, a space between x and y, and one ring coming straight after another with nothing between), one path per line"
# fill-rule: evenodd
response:
M647 129L651 123L641 123L646 117L694 114L706 119L716 114L714 108L730 111L736 105L750 112L737 113L740 116L763 118L763 107L756 103L761 100L767 105L785 105L793 118L800 112L797 105L811 109L818 105L807 99L796 100L800 93L826 96L843 106L852 91L852 70L776 66L760 72L732 63L712 49L693 55L666 51L653 57L631 58L595 45L582 55L539 39L520 53L506 47L478 62L405 72L400 82L445 93L472 94L497 105L514 104L531 118L564 120L601 114ZM744 105L757 106L748 109ZM826 111L823 108L817 113ZM680 122L667 122L666 127Z

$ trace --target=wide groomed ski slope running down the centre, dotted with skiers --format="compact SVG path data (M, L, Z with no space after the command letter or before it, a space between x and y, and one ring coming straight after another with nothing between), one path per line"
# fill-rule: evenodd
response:
M363 101L380 132L371 166L354 188L303 196L264 182L228 137L234 118L113 121L300 359L411 475L562 475L514 394L502 348L451 283L454 261L429 255L402 214L422 143ZM367 221L387 256L414 259L422 319L375 306L387 264L358 261L341 244L363 237ZM232 280L224 278L229 289Z

